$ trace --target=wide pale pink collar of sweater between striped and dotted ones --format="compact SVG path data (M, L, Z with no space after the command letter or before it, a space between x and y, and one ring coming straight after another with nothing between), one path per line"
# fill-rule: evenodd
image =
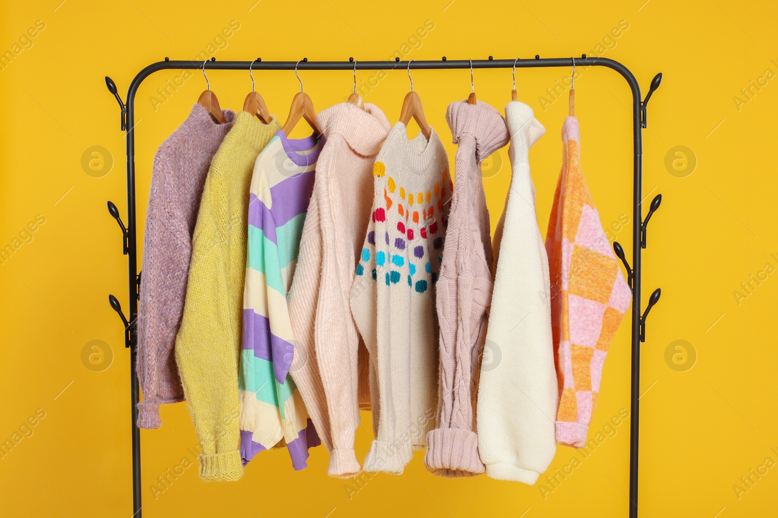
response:
M384 112L370 103L365 103L364 110L352 103L338 103L318 113L316 120L325 137L340 135L362 156L376 155L391 128Z

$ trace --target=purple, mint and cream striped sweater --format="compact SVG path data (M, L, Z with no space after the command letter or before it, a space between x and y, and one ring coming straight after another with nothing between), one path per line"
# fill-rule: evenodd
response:
M300 249L314 169L324 139L279 131L254 164L248 209L243 347L240 352L240 453L244 464L286 443L296 470L319 440L289 375L294 355L286 294Z

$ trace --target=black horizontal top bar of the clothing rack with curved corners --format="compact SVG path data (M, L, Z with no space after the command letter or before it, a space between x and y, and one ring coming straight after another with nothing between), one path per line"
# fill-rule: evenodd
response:
M307 58L303 58L307 60ZM354 61L207 61L205 70L354 70ZM445 70L457 68L470 68L470 60L437 60L437 61L356 61L357 70L406 70L408 66L412 70ZM473 68L542 68L542 67L573 67L576 66L601 66L612 68L619 72L629 87L633 90L635 99L640 99L640 85L629 68L619 61L607 57L552 57L552 58L512 58L512 59L474 59ZM202 61L157 61L149 64L135 75L128 89L128 104L135 98L135 92L141 82L149 75L160 70L195 70L202 68Z

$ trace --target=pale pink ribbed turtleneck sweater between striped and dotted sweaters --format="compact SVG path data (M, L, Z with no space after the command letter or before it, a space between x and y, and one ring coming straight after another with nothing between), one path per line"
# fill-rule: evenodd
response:
M362 469L354 452L360 381L370 403L368 362L359 370L359 356L366 357L367 350L351 315L349 294L370 220L373 162L391 126L370 103L364 110L336 104L319 113L317 122L327 141L316 165L288 297L294 356L300 360L293 363L292 377L330 451L328 474L349 478ZM311 214L314 210L317 214Z

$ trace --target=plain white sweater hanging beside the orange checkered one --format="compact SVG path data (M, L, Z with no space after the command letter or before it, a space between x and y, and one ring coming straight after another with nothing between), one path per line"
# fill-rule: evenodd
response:
M534 484L554 458L559 394L548 256L535 215L529 150L545 133L532 109L505 107L513 177L494 234L495 281L478 381L478 453L486 475Z

